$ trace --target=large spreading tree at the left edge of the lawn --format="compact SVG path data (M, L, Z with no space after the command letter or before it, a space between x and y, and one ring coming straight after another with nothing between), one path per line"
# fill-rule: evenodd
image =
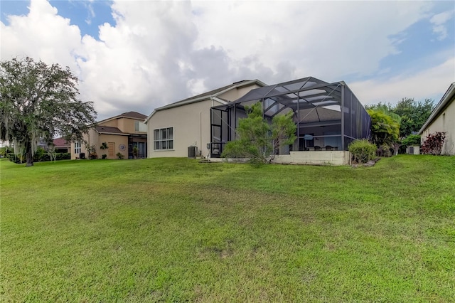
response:
M68 142L82 140L96 112L78 94L77 77L68 67L28 57L2 61L0 139L11 142L16 154L25 151L26 166L33 166L39 140L49 146L57 135Z

